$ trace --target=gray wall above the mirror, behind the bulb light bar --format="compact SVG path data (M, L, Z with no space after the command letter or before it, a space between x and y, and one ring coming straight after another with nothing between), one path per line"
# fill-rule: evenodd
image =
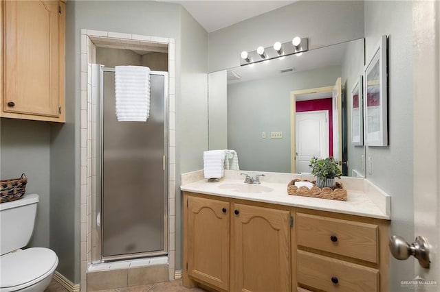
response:
M241 51L308 37L309 49L364 37L362 1L298 1L209 34L209 72L240 65Z

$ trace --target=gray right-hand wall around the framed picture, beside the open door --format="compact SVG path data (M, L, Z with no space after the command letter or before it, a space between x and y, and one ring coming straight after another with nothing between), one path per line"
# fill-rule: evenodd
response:
M411 241L414 236L412 2L365 2L366 62L383 34L388 35L390 143L388 147L366 149L373 166L367 178L392 196L391 233ZM391 291L401 291L400 281L417 276L414 265L412 260L391 259Z

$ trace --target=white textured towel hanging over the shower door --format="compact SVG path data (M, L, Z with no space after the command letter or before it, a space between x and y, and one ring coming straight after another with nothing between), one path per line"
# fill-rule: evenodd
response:
M118 121L146 121L150 114L150 69L115 66L115 99Z

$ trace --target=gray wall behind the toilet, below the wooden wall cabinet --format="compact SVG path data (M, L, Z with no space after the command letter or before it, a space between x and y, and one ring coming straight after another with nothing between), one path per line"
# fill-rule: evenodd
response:
M49 247L49 125L41 121L1 119L1 180L28 177L26 194L38 193L34 234L30 247Z

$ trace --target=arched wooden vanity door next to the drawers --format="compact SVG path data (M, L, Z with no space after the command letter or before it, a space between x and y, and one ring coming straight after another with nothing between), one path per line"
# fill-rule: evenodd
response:
M232 291L290 291L289 211L232 204Z

